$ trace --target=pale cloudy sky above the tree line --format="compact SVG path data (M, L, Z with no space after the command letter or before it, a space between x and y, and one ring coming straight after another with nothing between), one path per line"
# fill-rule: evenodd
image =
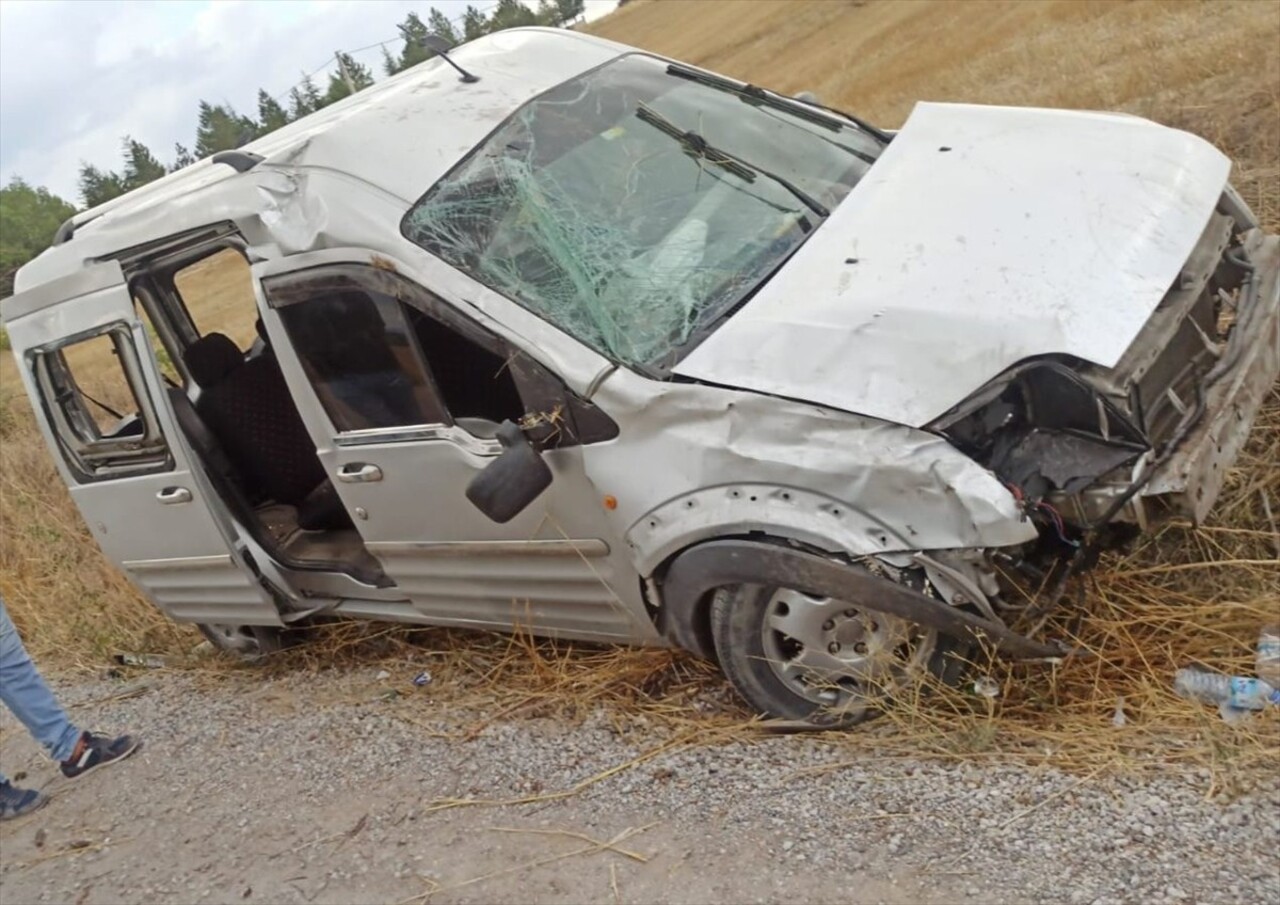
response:
M614 5L586 0L588 15ZM396 24L431 6L461 18L467 0L0 0L0 182L78 204L81 161L118 169L124 136L169 161L200 100L253 114L260 87L287 95L335 50L398 52ZM381 77L378 46L356 59Z

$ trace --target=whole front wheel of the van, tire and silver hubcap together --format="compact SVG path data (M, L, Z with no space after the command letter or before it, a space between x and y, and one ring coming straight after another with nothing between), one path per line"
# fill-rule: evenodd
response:
M869 719L929 677L959 680L968 643L874 605L769 585L721 588L710 611L721 668L756 710L833 727Z

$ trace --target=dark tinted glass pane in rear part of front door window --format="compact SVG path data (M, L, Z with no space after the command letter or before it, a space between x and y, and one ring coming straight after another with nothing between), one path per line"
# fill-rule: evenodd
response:
M280 320L339 431L445 421L398 301L337 279Z

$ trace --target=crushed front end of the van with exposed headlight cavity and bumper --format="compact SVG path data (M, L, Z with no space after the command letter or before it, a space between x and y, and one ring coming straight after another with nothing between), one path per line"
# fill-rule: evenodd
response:
M1004 480L1041 552L1062 557L1175 515L1199 524L1277 372L1280 237L1228 188L1114 367L1028 360L931 428Z

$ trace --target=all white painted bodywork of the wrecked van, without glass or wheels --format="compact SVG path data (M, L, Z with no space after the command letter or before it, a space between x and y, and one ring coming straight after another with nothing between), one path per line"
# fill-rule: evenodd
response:
M77 485L45 428L104 552L157 604L183 620L279 622L244 568L238 525L188 467L119 265L104 283L93 264L142 260L140 250L210 227L243 239L257 278L334 261L394 270L618 428L547 452L552 486L498 525L465 497L494 443L440 425L337 436L257 284L320 462L397 582L334 576L317 598L283 576L291 618L337 604L365 617L660 643L645 603L664 603L663 566L703 540L759 534L905 563L1038 536L996 474L919 428L1028 357L1114 366L1224 197L1226 159L1135 118L922 104L809 241L676 367L692 380L650 379L401 233L413 201L522 104L627 52L637 51L559 29L486 36L453 52L479 82L429 60L250 143L261 160L246 172L200 161L77 215L72 238L19 271L19 296L0 311L19 362L93 325L133 324L173 470ZM1258 353L1258 374L1274 378L1275 348L1271 339ZM364 466L380 479L339 479ZM174 485L192 501L155 506Z

